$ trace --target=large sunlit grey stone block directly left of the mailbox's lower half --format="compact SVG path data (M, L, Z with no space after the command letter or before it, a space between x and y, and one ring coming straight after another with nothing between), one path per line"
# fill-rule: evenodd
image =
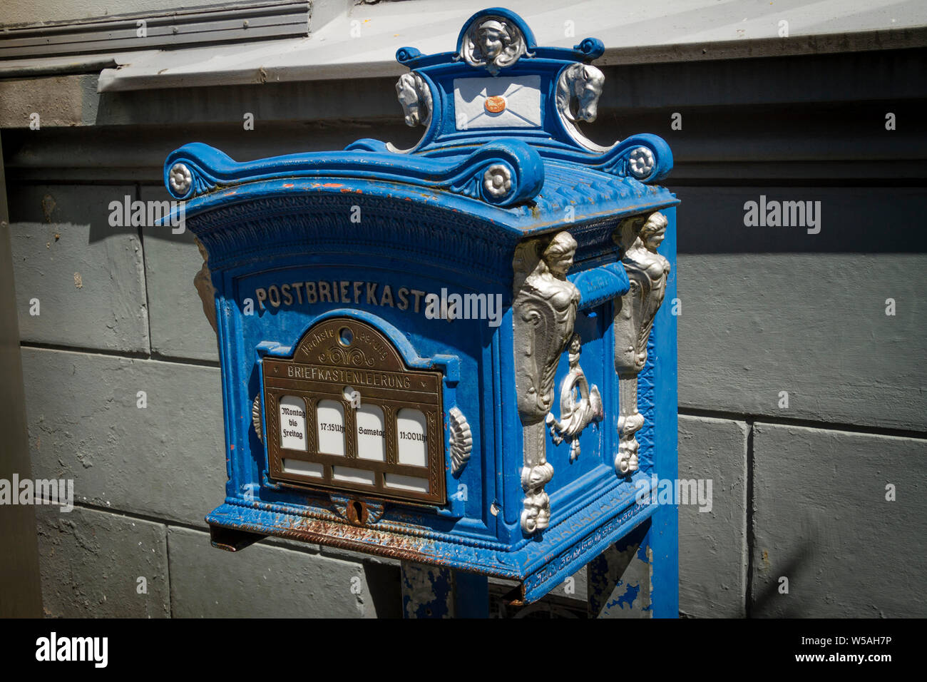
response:
M80 502L205 525L225 495L217 367L24 348L32 473ZM140 407L139 392L145 392Z

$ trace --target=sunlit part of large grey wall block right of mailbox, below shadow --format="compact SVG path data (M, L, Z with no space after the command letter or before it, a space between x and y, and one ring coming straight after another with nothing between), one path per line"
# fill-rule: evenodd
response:
M927 431L925 271L924 254L680 255L679 405Z

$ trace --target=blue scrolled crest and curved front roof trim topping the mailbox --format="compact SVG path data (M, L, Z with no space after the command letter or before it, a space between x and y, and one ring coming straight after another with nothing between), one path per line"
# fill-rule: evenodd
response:
M596 38L572 49L539 47L514 12L485 9L464 24L454 52L423 55L414 47L396 52L400 64L412 70L396 84L405 122L425 126L413 148L362 139L343 152L235 163L218 149L194 143L168 157L166 185L176 199L193 199L246 180L359 177L509 207L538 199L550 172L542 159L655 182L673 167L661 137L631 135L604 148L578 129L578 122L596 119L605 77L589 62L603 51Z

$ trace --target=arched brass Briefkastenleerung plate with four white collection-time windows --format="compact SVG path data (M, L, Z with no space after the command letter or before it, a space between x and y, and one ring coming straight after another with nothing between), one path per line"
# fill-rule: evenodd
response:
M271 479L447 502L440 372L409 369L382 332L349 317L309 328L292 358L262 363Z

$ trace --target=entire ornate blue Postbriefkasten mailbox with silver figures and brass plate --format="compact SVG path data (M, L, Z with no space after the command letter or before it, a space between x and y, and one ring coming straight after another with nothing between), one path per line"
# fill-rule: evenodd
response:
M221 352L216 547L297 538L530 602L647 524L675 615L676 510L646 493L676 477L678 200L663 139L580 131L602 54L491 8L453 52L397 52L413 148L171 153Z

